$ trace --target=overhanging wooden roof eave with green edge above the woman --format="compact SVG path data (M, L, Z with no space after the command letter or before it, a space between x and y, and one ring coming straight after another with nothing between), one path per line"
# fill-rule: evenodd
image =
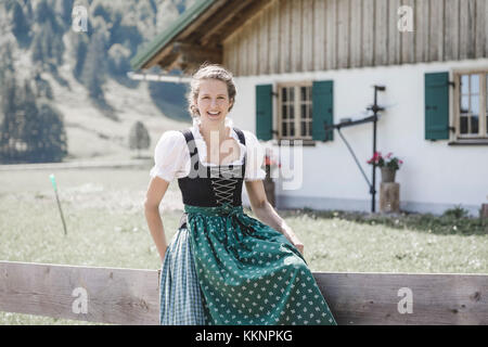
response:
M159 65L188 70L204 61L222 63L222 41L271 0L197 0L139 52L134 70Z

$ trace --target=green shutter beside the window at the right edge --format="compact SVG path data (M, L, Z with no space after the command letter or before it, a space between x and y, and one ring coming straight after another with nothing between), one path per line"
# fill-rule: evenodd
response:
M425 140L449 140L449 73L425 74Z

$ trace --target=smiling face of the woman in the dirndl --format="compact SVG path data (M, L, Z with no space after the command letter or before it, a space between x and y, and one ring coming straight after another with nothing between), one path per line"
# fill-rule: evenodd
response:
M196 106L203 125L223 123L231 105L226 82L219 79L204 79L200 82Z

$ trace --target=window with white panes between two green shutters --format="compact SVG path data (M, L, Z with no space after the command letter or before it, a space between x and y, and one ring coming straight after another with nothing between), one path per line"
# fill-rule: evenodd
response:
M279 139L312 139L312 83L278 85Z

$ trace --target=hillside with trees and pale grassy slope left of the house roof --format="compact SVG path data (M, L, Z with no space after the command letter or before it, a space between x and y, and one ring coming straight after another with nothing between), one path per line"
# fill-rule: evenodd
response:
M68 152L63 162L131 158L128 134L137 120L151 137L141 154L152 156L162 132L190 124L185 86L129 80L128 62L193 2L2 1L0 81L15 76L18 85L34 83L37 98L62 114ZM70 13L79 4L88 10L88 33L72 29Z

